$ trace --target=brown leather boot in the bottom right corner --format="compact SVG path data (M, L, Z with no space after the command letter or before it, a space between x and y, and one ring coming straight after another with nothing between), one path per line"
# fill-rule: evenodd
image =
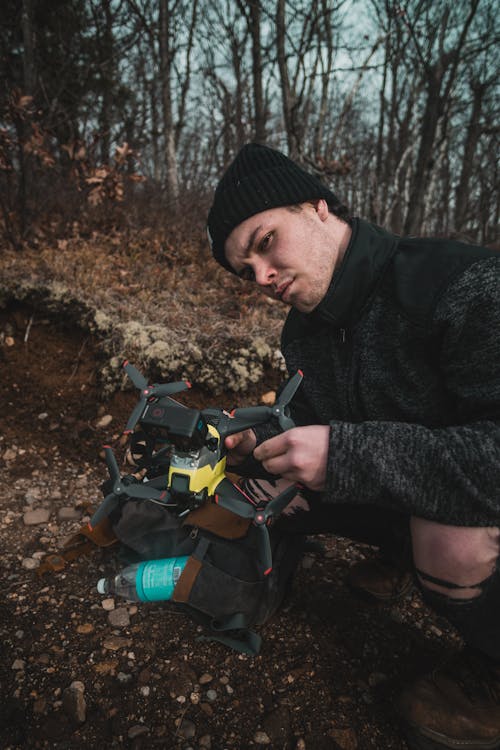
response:
M399 699L411 750L500 748L500 665L465 648Z

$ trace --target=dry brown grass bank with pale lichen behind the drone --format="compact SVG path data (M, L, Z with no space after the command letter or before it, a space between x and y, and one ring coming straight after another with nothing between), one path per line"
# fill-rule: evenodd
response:
M2 266L4 297L59 299L59 313L97 333L110 388L120 380L114 355L234 391L279 363L285 309L220 268L202 227L94 232L6 250Z

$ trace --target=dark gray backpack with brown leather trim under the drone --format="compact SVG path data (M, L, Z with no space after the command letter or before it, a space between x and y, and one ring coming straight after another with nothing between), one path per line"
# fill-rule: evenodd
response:
M219 641L249 655L262 639L253 630L282 603L302 557L305 536L269 529L273 567L260 560L259 530L249 520L207 502L179 517L148 500L127 500L110 516L126 563L188 555L165 606L203 628L201 640Z

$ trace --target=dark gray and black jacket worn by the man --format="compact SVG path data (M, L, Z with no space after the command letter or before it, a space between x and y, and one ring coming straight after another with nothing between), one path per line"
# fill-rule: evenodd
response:
M282 352L304 373L296 424L330 425L323 501L500 525L500 253L355 219L325 298L290 311Z

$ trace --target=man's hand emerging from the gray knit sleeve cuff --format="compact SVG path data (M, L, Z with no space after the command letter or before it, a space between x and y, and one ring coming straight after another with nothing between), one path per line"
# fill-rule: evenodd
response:
M325 488L329 437L328 425L294 427L261 443L254 456L270 474L320 491Z

